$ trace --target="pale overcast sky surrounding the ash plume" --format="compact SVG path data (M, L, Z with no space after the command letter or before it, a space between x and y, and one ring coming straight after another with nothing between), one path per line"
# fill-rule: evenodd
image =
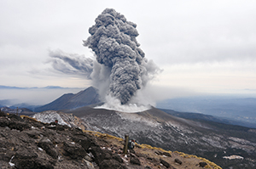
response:
M83 73L54 69L50 54L61 51L95 59L83 40L90 36L88 29L96 17L105 8L114 8L137 24L137 42L145 57L162 70L148 84L151 97L256 97L255 6L250 0L1 0L0 85L69 87L65 92L90 87ZM49 99L44 94L44 101L37 103L62 92ZM0 99L32 101L32 95L25 99L22 93L0 90Z

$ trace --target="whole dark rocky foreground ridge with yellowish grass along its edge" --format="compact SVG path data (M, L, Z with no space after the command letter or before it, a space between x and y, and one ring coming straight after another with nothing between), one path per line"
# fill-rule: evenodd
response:
M123 154L124 140L0 111L0 168L165 169L220 168L179 152L136 144Z

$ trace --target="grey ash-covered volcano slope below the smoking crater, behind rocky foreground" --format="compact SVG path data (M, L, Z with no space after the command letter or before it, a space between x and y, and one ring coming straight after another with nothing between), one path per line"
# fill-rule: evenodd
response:
M224 168L256 165L256 130L211 121L190 121L157 109L138 113L89 107L66 111L79 116L91 130L117 137L129 134L138 143L200 155ZM224 156L240 155L242 161L227 161Z

